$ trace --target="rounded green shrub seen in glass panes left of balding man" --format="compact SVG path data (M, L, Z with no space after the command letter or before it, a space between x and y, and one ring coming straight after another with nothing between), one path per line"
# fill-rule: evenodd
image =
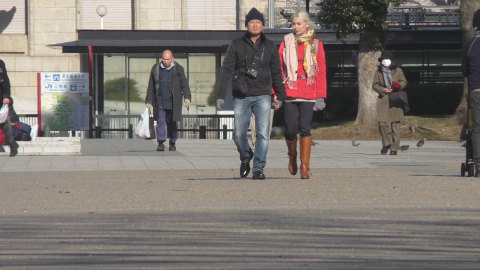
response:
M105 100L125 101L125 77L120 77L105 81ZM134 79L128 80L128 89L130 101L144 101L140 97L137 88L137 81Z

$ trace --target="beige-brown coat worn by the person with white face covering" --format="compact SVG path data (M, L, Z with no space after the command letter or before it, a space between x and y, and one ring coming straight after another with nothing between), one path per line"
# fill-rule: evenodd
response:
M401 68L392 70L392 78L395 82L400 84L400 90L405 88L407 80ZM378 93L377 99L377 121L378 122L399 122L403 119L403 108L391 107L388 102L388 95L383 92L385 82L383 80L382 72L377 70L373 77L372 88Z

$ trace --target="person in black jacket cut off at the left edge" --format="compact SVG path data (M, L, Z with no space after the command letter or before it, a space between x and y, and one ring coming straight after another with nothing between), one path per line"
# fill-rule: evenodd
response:
M10 103L10 79L8 79L7 68L5 62L0 59L0 97L3 104ZM5 123L0 124L0 127L5 134L5 144L10 145L10 156L14 157L18 154L18 143L13 139L12 127L10 118L7 117ZM0 152L5 152L5 149L0 145Z

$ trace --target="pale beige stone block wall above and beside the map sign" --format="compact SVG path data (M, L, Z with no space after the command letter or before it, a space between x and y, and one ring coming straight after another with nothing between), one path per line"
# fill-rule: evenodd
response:
M48 45L77 39L75 0L28 1L28 37L2 34L11 46L0 47L5 61L17 113L37 113L37 72L78 72L78 55L62 54ZM18 42L18 43L17 43Z

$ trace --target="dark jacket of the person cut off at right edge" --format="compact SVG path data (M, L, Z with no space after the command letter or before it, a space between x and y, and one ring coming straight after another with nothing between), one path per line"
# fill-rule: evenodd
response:
M468 78L468 91L480 89L480 33L463 44L462 72Z

